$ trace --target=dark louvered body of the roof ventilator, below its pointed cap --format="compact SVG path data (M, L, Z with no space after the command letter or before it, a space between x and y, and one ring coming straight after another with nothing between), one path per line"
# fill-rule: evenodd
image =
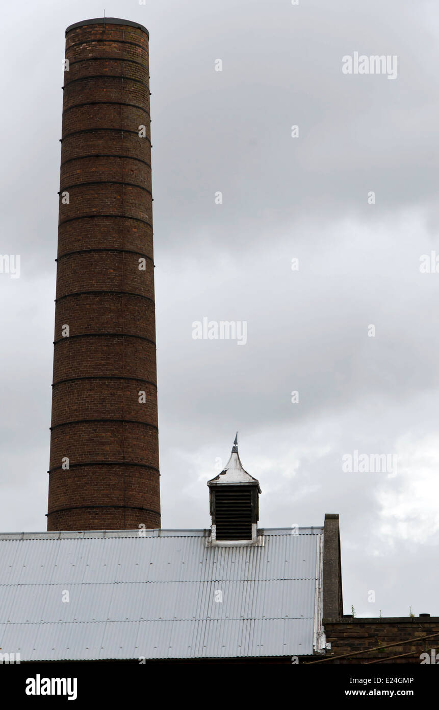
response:
M218 486L214 495L216 540L251 540L251 488Z

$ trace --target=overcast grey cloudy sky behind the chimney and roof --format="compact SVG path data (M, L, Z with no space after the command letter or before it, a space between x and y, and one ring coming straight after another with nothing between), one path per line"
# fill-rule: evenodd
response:
M150 31L162 527L209 527L238 430L261 527L340 513L345 613L439 616L437 2L104 3ZM2 8L4 532L47 525L65 28L103 11ZM355 52L396 75L343 73ZM204 317L246 344L194 340Z

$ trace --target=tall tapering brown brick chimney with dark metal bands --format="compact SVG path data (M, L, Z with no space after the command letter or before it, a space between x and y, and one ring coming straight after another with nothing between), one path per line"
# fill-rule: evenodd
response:
M148 40L66 30L48 530L160 528Z

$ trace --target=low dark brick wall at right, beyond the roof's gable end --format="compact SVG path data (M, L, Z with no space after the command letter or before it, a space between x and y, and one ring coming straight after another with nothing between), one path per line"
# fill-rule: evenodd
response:
M439 660L439 618L438 617L396 617L396 618L343 618L323 619L326 642L331 643L329 657L355 652L354 657L334 658L326 663L354 664L380 660L386 664L420 664L420 655L435 648ZM433 638L421 636L437 634ZM367 649L396 643L390 648L367 652ZM402 643L409 642L409 643ZM404 654L404 655L403 655ZM410 655L406 655L410 654ZM396 658L396 656L401 656Z

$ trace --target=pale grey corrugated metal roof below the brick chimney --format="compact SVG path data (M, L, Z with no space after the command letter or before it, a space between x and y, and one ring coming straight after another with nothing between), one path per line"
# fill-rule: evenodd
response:
M263 545L249 547L206 547L209 530L141 532L0 535L1 652L25 661L317 649L323 528L262 530Z

